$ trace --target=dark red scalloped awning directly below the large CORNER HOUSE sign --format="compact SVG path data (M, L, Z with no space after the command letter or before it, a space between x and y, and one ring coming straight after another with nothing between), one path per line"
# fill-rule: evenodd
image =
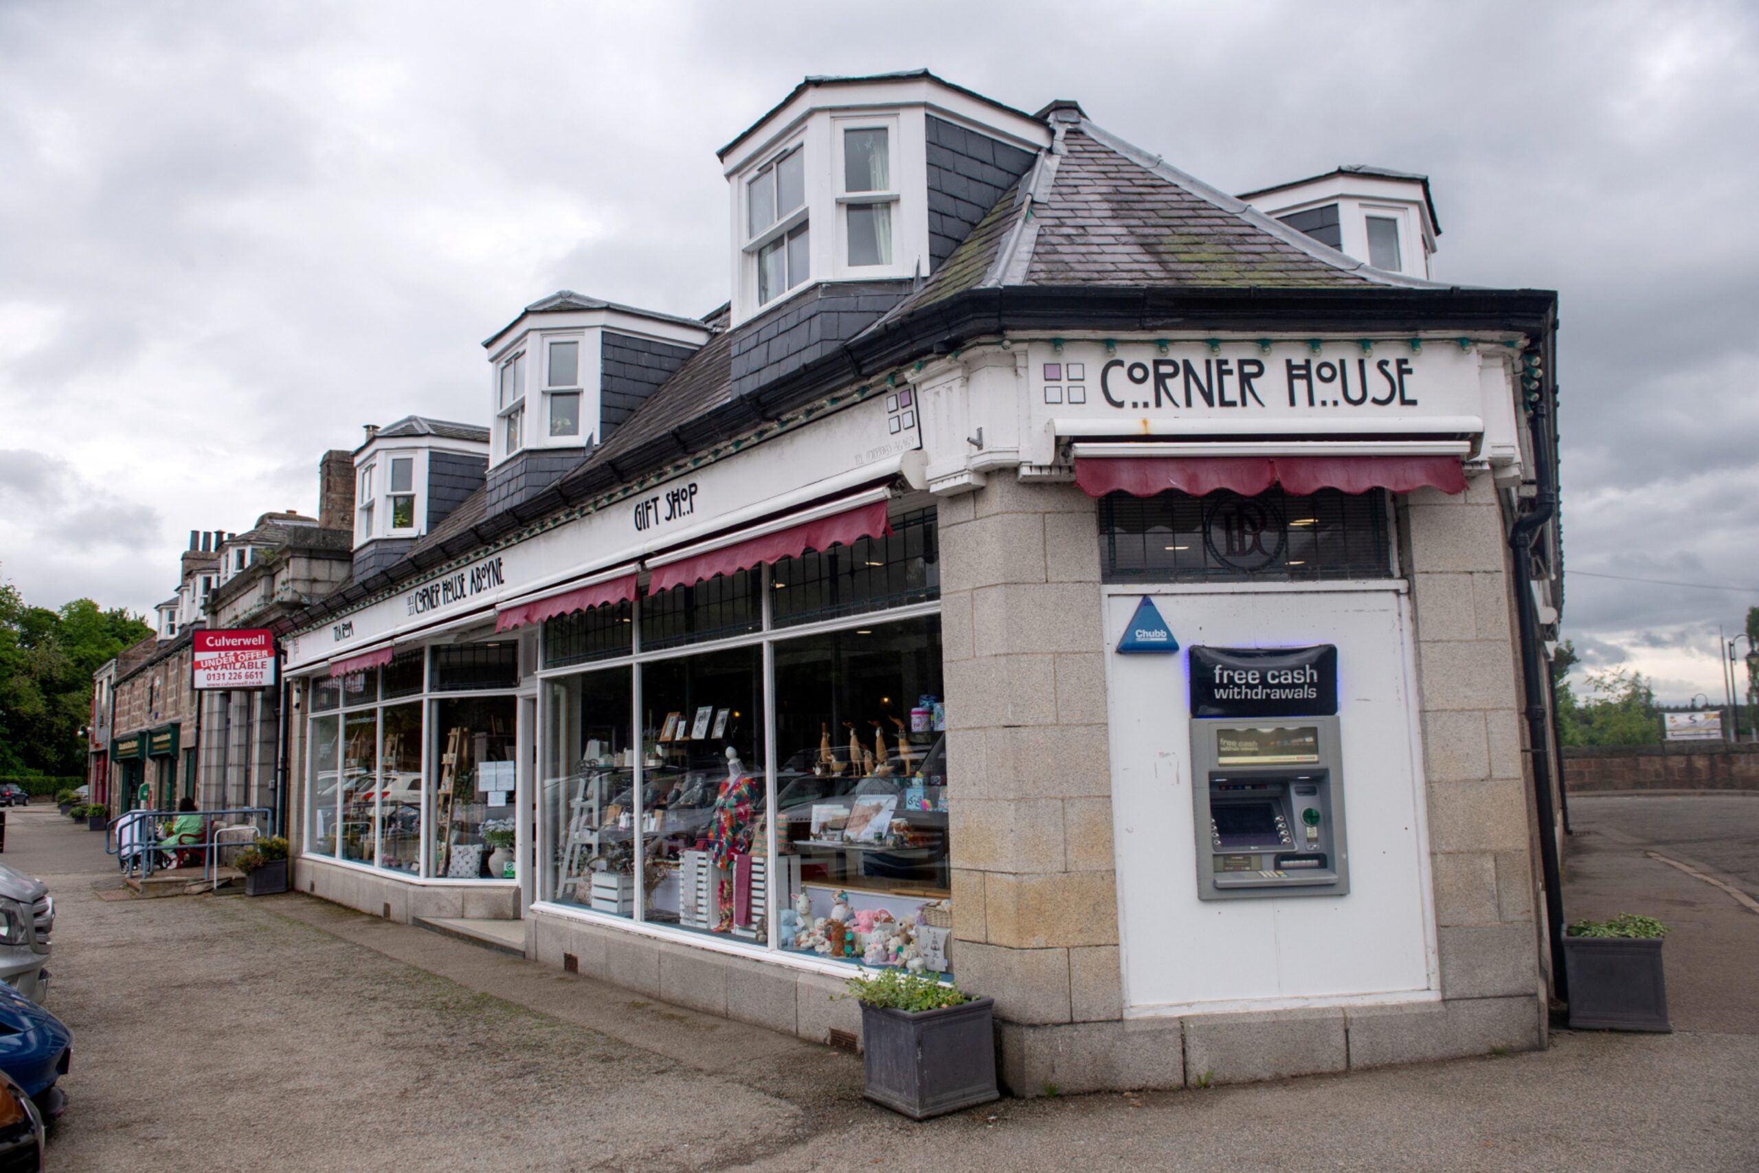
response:
M1456 455L1115 455L1077 457L1075 484L1091 498L1152 498L1166 489L1254 496L1275 484L1295 494L1425 487L1465 492L1465 473Z

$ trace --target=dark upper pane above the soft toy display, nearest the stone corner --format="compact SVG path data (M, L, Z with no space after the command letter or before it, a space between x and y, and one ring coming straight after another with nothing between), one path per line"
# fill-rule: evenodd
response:
M883 538L807 550L769 570L776 626L922 603L941 594L934 510L904 514Z

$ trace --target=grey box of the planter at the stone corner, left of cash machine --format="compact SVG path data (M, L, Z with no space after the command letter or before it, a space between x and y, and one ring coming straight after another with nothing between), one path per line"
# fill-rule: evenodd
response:
M948 1009L862 1006L867 1099L911 1120L999 1099L994 999Z

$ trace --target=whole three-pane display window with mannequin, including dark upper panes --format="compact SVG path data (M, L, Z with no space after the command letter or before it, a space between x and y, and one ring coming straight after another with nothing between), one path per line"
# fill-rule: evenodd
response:
M549 621L540 900L952 971L934 512L892 528Z

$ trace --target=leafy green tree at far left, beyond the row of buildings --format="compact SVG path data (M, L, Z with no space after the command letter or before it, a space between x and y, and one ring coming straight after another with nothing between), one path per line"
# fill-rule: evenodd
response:
M84 774L91 674L148 635L127 608L88 598L30 607L0 584L0 774Z

